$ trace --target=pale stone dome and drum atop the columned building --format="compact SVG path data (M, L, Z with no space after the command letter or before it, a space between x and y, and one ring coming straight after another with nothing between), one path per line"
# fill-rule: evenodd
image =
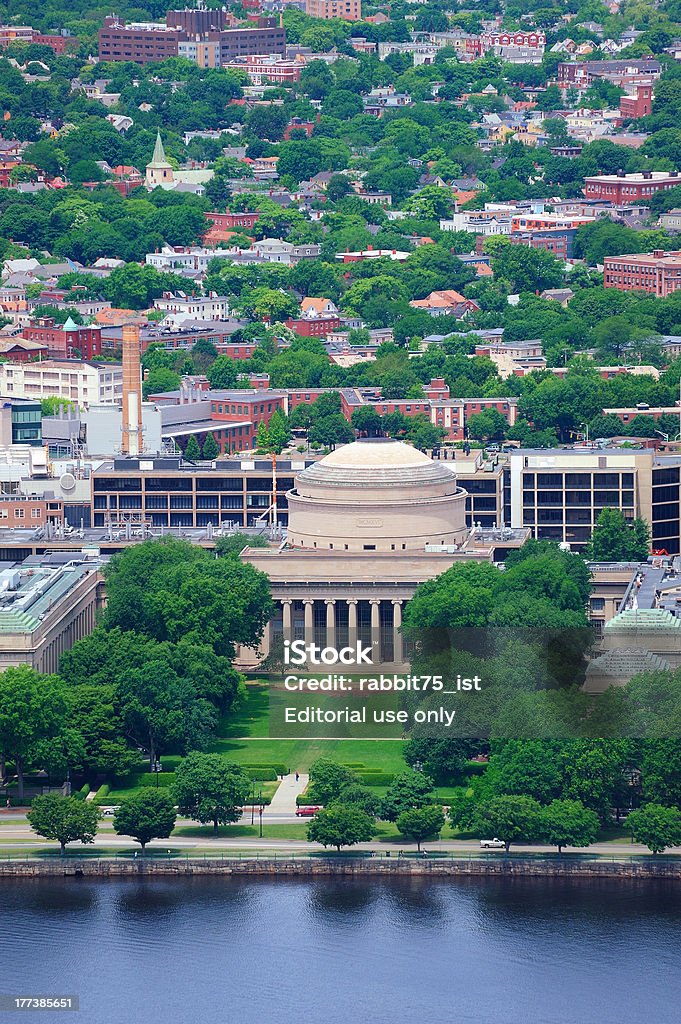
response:
M289 544L333 551L423 551L467 535L466 493L450 463L370 437L308 466L289 492Z

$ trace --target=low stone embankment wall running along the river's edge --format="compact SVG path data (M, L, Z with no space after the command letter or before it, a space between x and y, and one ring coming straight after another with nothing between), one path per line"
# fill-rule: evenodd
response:
M223 857L223 858L54 858L0 861L0 880L31 878L135 878L139 876L420 876L431 878L509 877L542 879L668 879L681 881L681 858L586 860L569 857Z

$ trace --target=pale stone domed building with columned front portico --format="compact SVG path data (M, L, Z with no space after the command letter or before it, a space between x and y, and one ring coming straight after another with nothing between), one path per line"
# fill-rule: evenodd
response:
M368 438L301 470L288 494L287 541L246 548L267 574L275 612L255 666L282 641L372 643L375 660L403 669L402 609L420 583L456 561L491 561L494 546L466 526L455 463L410 444Z

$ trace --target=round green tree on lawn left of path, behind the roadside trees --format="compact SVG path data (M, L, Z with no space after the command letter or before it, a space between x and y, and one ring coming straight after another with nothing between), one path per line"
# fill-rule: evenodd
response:
M218 825L239 821L251 780L243 768L219 754L187 755L175 771L173 795L182 814Z

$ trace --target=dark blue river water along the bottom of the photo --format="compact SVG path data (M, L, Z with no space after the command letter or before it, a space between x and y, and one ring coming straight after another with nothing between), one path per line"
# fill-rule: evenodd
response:
M0 882L9 1024L679 1024L681 887Z

